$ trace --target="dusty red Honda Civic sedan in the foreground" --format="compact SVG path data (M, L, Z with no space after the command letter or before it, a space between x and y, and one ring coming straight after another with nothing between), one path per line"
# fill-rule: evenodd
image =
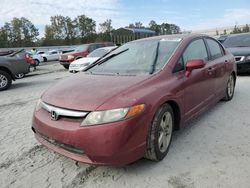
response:
M84 163L160 161L172 132L231 100L235 82L233 55L209 36L137 40L48 89L32 130L48 148Z

